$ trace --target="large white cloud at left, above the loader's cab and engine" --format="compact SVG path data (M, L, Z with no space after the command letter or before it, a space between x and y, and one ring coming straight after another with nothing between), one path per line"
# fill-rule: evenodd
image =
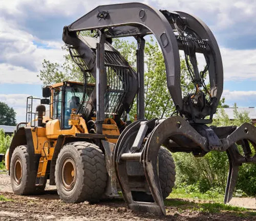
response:
M38 47L35 42L44 44ZM17 24L0 17L0 76L1 83L37 83L36 77L44 59L63 62L61 41L42 41L19 30Z

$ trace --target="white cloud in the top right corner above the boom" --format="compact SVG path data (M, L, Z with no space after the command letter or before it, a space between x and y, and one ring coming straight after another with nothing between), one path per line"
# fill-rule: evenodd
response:
M241 21L255 23L254 11L256 2L254 0L147 0L147 3L156 3L164 9L171 11L184 11L207 20L218 28L224 29L230 25L238 25ZM239 27L239 30L244 27Z

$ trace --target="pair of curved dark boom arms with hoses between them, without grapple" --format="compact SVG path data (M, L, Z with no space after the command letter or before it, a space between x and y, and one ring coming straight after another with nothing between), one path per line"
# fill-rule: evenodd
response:
M190 120L212 117L216 112L223 90L222 60L214 35L200 19L184 12L158 11L141 3L116 4L99 6L74 21L63 32L63 40L67 42L67 35L83 30L104 30L108 38L154 34L164 56L167 87L177 111ZM210 101L206 105L198 107L189 98L182 98L179 50L189 52L195 85L202 84L196 53L206 58L210 79Z

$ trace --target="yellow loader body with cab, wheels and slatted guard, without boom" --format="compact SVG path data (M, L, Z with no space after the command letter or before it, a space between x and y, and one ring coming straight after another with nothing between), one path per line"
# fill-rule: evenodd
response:
M30 108L26 122L17 125L6 154L15 194L39 194L50 180L67 203L119 197L113 150L120 133L131 123L129 111L138 78L108 41L104 42L104 56L98 58L103 59L101 64L97 62L103 53L98 52L98 39L80 36L80 41L86 57L74 47L69 50L84 73L84 82L65 81L44 87L44 98L35 113L32 109L37 98L27 100ZM102 66L104 82L98 82L97 65ZM159 159L169 165L159 170L167 197L175 182L174 161L164 148Z

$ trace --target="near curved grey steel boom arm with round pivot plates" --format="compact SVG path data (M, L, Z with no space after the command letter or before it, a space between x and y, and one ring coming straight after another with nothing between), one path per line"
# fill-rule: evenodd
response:
M101 17L103 12L106 12L105 16ZM98 6L68 26L68 32L103 28L109 29L112 37L120 34L155 35L165 60L168 90L178 109L182 109L179 49L173 29L164 15L141 3Z

